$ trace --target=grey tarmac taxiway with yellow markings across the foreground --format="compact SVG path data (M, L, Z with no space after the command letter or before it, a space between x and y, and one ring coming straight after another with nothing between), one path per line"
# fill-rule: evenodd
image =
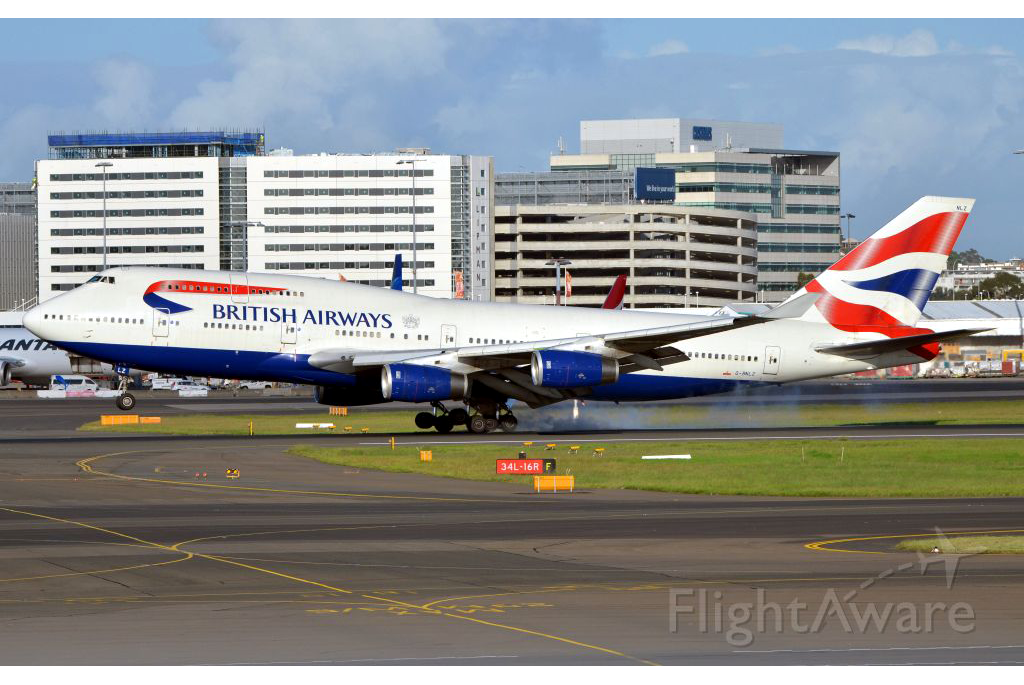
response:
M538 496L293 442L0 443L0 663L1024 662L1024 560L885 538L1021 499Z

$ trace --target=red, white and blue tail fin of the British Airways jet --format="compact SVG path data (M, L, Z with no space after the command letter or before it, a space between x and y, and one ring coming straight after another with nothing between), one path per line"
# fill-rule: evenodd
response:
M791 298L820 295L801 318L891 338L919 333L913 327L972 207L967 198L913 203Z

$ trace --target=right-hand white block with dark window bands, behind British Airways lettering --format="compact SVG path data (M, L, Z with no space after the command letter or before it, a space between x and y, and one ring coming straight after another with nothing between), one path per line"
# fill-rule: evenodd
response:
M492 299L492 158L271 155L248 177L249 270L387 286L401 253L411 290L415 206L418 292Z

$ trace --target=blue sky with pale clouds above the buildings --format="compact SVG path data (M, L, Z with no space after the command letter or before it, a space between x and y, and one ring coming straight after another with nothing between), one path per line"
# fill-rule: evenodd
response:
M1024 257L1021 19L2 19L0 181L53 131L257 127L297 154L426 146L544 170L580 121L773 122L842 155L863 239L977 199L956 249Z

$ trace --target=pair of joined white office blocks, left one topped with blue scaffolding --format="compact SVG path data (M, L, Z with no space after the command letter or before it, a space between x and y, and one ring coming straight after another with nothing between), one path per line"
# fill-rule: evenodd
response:
M49 147L37 163L41 300L101 268L104 169L110 266L385 286L401 253L411 287L415 223L419 292L490 299L488 157L267 154L261 131L51 135Z

